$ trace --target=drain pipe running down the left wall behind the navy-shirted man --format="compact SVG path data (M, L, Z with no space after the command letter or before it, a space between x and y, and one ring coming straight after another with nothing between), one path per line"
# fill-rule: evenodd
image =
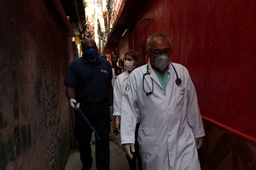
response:
M64 27L66 30L66 49L67 49L67 67L68 67L69 64L73 61L72 27L67 19L67 16L65 14L65 11L62 7L60 0L51 0L51 1L62 23L64 24ZM71 144L72 144L72 148L74 148L73 127L72 127L73 120L74 120L74 111L70 108L70 104L69 104L69 116L70 116Z

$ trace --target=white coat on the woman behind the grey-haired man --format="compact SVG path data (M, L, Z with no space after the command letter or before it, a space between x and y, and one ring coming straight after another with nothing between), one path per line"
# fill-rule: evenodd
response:
M130 73L128 71L123 72L122 74L118 75L118 77L115 80L115 85L114 85L114 102L113 102L113 107L114 107L114 113L113 116L120 116L121 117L121 111L122 111L122 98L123 98L123 93L125 92L127 80L129 77ZM137 115L137 123L140 122L140 116L139 116L139 109L136 107L136 115Z

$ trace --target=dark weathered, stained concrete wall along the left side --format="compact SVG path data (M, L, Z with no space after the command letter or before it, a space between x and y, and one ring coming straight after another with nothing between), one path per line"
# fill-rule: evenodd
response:
M46 0L5 1L0 23L0 169L64 169L64 27Z

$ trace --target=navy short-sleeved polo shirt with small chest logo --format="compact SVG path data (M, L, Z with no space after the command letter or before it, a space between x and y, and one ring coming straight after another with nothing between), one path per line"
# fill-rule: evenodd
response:
M78 102L100 102L107 99L111 79L112 69L107 60L98 57L92 64L82 56L69 65L64 85L75 89Z

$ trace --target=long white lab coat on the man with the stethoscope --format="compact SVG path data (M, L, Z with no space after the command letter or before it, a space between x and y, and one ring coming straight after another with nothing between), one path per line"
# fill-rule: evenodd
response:
M188 70L173 63L180 85L175 83L176 74L169 64L166 95L149 62L150 75L143 74L147 65L135 69L129 76L122 99L122 144L134 143L136 105L141 125L139 147L143 170L200 170L194 138L205 135L197 103L194 85Z

